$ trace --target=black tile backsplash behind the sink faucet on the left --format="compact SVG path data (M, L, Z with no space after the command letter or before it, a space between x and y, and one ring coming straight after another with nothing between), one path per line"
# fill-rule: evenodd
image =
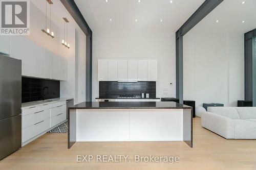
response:
M59 98L59 81L22 77L22 103L42 100L42 88L46 99Z

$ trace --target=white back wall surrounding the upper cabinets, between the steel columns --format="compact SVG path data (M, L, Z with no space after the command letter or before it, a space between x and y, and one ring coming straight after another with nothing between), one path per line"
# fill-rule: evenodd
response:
M98 59L121 58L157 59L157 97L175 97L175 33L94 32L93 101L99 96Z

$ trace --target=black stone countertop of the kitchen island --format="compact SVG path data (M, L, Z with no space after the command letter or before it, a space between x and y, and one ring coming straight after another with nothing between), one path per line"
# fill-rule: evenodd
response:
M69 109L191 109L176 102L83 102Z

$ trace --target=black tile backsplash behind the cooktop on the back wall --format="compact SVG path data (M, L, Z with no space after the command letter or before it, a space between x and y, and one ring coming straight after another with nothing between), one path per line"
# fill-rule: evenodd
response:
M117 98L119 95L141 95L150 93L156 98L156 82L99 82L99 98Z

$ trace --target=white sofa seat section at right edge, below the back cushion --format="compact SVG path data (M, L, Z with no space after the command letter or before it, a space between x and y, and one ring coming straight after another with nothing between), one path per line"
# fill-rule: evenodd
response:
M256 139L256 123L248 120L233 120L235 139Z

